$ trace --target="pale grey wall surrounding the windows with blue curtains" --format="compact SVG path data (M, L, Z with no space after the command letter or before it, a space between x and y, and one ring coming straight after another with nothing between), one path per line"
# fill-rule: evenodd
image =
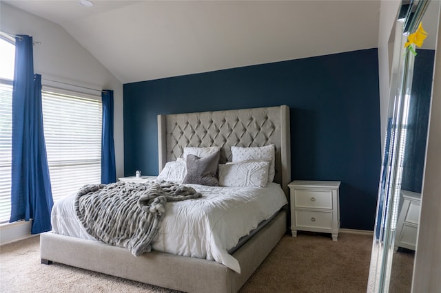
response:
M45 78L92 89L114 90L114 142L116 177L124 175L123 84L84 49L60 25L23 12L0 1L0 30L10 34L28 34L34 41L34 72L42 84L74 89L100 96L98 91L68 87ZM23 226L24 225L24 226ZM21 239L30 231L28 222L0 226L1 244Z

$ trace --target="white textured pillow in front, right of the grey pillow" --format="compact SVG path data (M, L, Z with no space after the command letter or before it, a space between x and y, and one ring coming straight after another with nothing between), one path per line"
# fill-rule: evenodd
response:
M219 165L219 183L230 187L265 187L269 164L269 161L245 161Z

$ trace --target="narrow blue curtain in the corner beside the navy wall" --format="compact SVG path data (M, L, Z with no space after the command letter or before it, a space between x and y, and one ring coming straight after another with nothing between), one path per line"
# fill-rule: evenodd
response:
M101 92L103 128L101 133L101 183L116 182L115 147L113 140L113 91Z

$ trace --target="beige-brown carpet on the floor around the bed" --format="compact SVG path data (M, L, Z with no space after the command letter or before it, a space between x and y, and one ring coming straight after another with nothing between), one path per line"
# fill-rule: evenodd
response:
M366 292L371 236L285 235L240 292ZM118 264L115 264L118 265ZM54 263L43 265L39 237L0 247L1 292L175 292Z

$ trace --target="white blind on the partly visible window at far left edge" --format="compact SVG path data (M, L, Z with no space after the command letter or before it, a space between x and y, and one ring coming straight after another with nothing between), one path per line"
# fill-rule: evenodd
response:
M12 164L12 85L0 83L0 223L9 221Z

